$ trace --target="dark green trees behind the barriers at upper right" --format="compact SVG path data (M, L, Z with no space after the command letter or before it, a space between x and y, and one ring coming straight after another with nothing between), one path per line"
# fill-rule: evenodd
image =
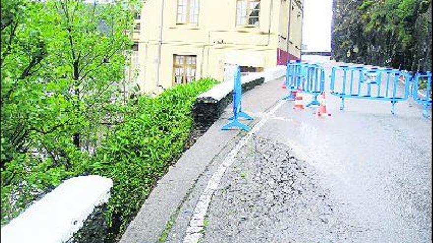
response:
M334 0L338 61L431 71L431 0Z

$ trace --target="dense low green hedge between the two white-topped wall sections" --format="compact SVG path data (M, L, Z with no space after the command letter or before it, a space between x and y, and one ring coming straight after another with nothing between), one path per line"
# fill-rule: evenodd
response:
M88 172L114 181L107 212L111 238L124 232L156 180L179 158L193 129L195 98L215 83L205 79L155 99L140 97L97 149Z

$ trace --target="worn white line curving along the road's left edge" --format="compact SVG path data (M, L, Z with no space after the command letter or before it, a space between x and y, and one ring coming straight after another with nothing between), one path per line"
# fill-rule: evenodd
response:
M236 146L228 153L224 161L218 166L218 169L212 175L211 179L208 181L206 188L200 195L197 205L194 208L194 213L189 221L189 226L186 229L186 237L184 238L184 243L197 243L203 236L204 227L204 217L208 211L209 203L211 202L212 195L218 188L222 176L225 171L232 163L235 161L236 155L239 153L242 147L244 147L247 142L252 138L252 136L257 133L260 128L273 117L273 114L284 104L284 101L279 101L278 104L272 108L269 112L264 113L262 119L254 125L251 131L245 135Z

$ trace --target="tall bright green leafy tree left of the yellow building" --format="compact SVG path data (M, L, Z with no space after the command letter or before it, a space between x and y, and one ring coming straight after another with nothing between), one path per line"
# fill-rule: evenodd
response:
M136 4L1 0L2 224L82 173L82 147L119 120Z

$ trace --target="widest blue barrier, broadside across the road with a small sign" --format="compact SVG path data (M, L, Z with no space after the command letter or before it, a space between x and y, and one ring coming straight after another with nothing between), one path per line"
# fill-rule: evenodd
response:
M342 77L337 77L338 73ZM398 88L400 79L404 81L403 90ZM347 83L348 80L349 83ZM341 98L341 110L344 109L344 99L370 99L390 101L391 113L395 114L395 104L409 97L410 81L411 75L406 71L362 66L337 66L331 71L331 94ZM336 83L339 85L338 90Z

